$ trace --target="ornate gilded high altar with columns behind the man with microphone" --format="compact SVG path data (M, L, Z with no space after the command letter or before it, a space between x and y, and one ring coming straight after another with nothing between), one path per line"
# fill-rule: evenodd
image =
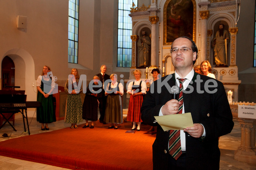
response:
M132 6L132 65L129 79L134 79L135 69L142 71L143 79L148 74L152 79L151 70L159 68L160 74L166 76L175 71L172 65L172 42L180 36L190 37L198 47L198 59L195 65L208 60L212 65L212 73L221 81L227 91L233 92L233 101L238 101L238 68L236 65L236 35L238 34L237 8L239 3L235 1L209 1L209 0L151 0L150 4ZM183 23L181 25L180 23ZM175 25L176 24L176 25ZM185 25L186 24L186 28ZM229 34L229 43L226 46L227 65L217 65L215 62L212 40L220 24L225 26ZM150 55L148 63L139 64L140 39L142 32L150 37ZM145 37L145 36L144 36ZM148 67L148 72L146 72Z

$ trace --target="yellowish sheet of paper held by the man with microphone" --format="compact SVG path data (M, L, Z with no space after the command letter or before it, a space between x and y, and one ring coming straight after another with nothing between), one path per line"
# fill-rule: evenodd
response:
M184 114L154 116L154 118L156 119L157 123L163 128L163 131L183 130L186 127L194 126L190 112Z

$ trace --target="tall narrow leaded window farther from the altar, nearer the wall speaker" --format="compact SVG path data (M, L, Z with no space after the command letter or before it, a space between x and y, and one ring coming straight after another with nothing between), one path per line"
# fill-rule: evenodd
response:
M69 0L68 9L68 62L77 64L79 0Z

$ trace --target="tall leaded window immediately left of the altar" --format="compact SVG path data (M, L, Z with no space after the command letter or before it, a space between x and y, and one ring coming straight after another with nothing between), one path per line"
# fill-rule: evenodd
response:
M137 0L118 0L117 67L131 67L132 3Z

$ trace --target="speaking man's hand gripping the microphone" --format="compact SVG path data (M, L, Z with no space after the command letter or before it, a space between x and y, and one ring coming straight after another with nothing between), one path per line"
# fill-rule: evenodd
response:
M163 115L178 113L180 104L181 102L178 102L176 99L169 100L162 108Z

